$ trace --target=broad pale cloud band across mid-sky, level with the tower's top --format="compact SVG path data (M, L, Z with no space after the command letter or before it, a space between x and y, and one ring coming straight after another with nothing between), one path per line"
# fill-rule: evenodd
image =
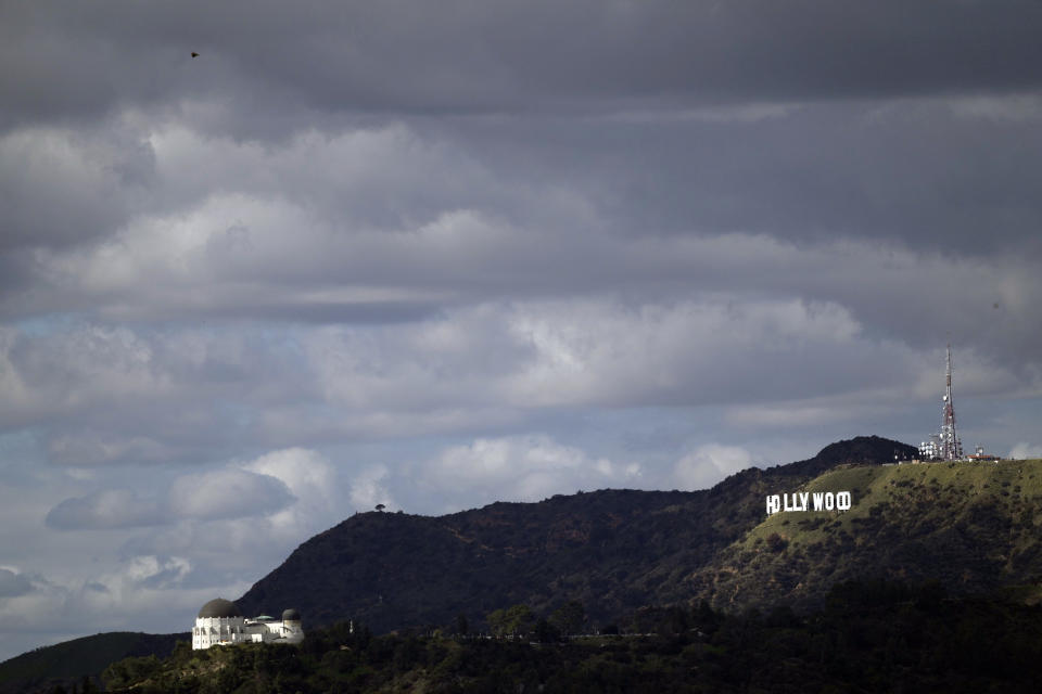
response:
M55 323L0 335L9 425L52 462L233 457L243 441L473 435L545 408L727 406L736 425L879 415L938 393L929 351L837 303L735 294L481 303L390 324L178 329ZM1042 391L1042 370L957 348L961 394Z

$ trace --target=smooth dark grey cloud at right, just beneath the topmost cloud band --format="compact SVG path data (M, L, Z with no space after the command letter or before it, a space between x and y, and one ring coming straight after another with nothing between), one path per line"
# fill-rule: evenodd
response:
M487 170L567 182L598 223L628 235L1042 250L1042 100L1005 117L1016 102L991 113L945 99L885 104L814 104L752 123L531 118L443 132Z

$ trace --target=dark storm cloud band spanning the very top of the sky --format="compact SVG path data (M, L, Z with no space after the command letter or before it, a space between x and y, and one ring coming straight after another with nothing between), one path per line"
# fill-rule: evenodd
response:
M270 117L1009 91L1037 87L1042 64L1042 8L1026 0L38 2L5 15L8 126L182 99L245 99Z

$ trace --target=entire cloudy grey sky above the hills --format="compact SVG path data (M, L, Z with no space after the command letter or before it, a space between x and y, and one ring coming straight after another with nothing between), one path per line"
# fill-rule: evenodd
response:
M964 444L1042 455L1039 36L1033 0L0 4L0 658L188 630L378 503L918 444L948 343Z

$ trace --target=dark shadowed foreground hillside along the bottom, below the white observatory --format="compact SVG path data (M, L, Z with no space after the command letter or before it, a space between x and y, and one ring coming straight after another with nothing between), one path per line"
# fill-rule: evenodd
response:
M1040 617L1039 607L872 581L837 586L804 616L702 604L644 611L640 633L567 640L538 628L517 640L372 635L341 622L300 647L182 647L103 677L128 694L1031 692L1042 676Z

